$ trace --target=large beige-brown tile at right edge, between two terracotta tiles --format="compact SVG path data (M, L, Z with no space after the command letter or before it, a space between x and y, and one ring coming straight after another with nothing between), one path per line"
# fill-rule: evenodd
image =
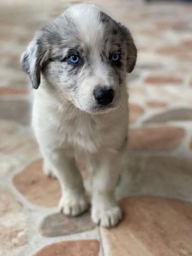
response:
M131 195L151 195L191 200L192 161L170 156L131 156L127 177ZM125 176L125 177L126 177ZM127 190L125 184L125 193Z

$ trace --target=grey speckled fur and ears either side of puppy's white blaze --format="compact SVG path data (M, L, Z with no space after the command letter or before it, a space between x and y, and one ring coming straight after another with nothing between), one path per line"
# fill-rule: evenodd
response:
M117 76L117 80L122 80L121 70L124 68L129 73L133 71L137 50L130 31L102 11L99 11L98 18L102 24L100 28L102 35L97 49L91 44L84 44L79 26L68 12L64 12L36 33L22 57L23 69L29 74L33 88L37 89L40 84L40 70L45 73L50 82L64 80L63 86L65 86L67 80L77 88L79 78L82 80L94 69L93 51L97 51L99 61L105 63L105 69L112 76ZM74 67L67 61L62 61L67 58L70 49L80 54L83 60L80 67ZM112 67L109 61L109 55L116 51L121 52L122 67L120 69Z

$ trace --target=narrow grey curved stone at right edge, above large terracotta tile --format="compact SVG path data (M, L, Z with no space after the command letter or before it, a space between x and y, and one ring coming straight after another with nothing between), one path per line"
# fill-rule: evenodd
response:
M163 123L169 121L187 121L192 119L191 109L175 109L157 114L144 121L144 123Z

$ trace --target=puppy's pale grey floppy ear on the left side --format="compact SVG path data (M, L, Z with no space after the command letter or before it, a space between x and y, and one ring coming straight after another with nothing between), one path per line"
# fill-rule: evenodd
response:
M23 70L29 75L34 89L38 89L40 84L42 56L43 53L40 51L37 41L34 39L30 42L27 50L21 57Z

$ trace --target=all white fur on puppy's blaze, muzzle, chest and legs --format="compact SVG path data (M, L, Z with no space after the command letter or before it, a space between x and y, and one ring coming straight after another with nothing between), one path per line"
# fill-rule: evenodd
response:
M89 52L91 64L83 71L82 76L79 73L77 89L73 90L74 79L72 77L69 79L68 73L63 72L63 67L68 69L70 64L51 61L49 67L41 74L38 88L37 80L34 78L34 74L40 76L36 67L39 63L38 49L34 48L32 53L26 52L23 55L23 67L31 75L34 88L38 88L34 91L32 125L44 157L44 171L49 176L56 176L60 182L62 197L59 209L66 215L76 216L89 207L84 195L82 178L75 164L76 160L81 160L86 163L86 170L92 180L93 222L100 223L104 227L115 226L122 219L114 191L126 151L129 115L125 74L126 69L129 68L126 59L134 45L133 39L131 47L127 49L126 44L129 41L123 42L121 39L123 68L119 73L122 79L119 84L119 75L109 61L101 61L100 53L103 51L103 41L105 41L103 37L106 34L103 31L106 24L100 22L99 9L94 5L82 4L69 8L65 13L75 20L78 38L79 34L81 35L81 47L86 45L91 49ZM61 15L55 21L61 30L60 34L63 26L60 24L65 19L63 17ZM37 36L40 34L42 32ZM110 32L107 36L109 38ZM33 44L36 44L36 39L30 44L28 51L31 51ZM65 45L65 41L63 44ZM52 46L53 54L58 51L58 46L54 47ZM110 54L110 47L113 48L113 45L105 49L106 56ZM45 54L48 56L49 49L46 51ZM65 48L63 52L61 51L60 55L65 55L67 52ZM33 62L30 71L29 62L35 57L36 61ZM60 73L58 73L59 69ZM66 82L66 77L70 82ZM93 90L98 86L113 88L115 97L111 108L105 110L96 108L97 102Z

